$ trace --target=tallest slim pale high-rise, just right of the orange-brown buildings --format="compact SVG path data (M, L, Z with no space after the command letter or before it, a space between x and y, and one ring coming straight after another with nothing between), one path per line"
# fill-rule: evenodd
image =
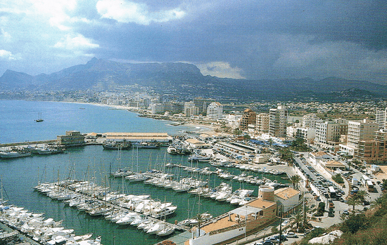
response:
M279 106L270 109L269 112L269 135L273 137L286 137L286 126L288 124L288 110Z

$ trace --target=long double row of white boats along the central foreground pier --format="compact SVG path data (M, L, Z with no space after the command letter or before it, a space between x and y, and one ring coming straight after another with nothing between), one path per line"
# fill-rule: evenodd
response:
M139 229L148 225L148 229L144 230L148 234L167 236L176 229L176 226L158 219L175 213L177 206L170 202L150 199L148 195L108 192L106 188L94 183L74 180L44 183L34 189L51 199L64 201L68 206L84 211L90 216L104 216L106 220L117 225L134 225Z

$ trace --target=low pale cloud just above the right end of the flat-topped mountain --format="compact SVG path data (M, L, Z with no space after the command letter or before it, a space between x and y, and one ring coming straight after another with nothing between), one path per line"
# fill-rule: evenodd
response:
M244 79L241 75L242 69L239 67L231 67L229 62L210 62L207 64L197 65L203 75L211 75L215 77L227 77L233 79Z

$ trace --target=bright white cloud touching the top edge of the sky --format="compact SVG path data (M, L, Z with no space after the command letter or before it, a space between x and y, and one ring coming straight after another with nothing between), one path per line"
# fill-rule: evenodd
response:
M149 25L151 22L167 22L183 18L185 15L185 12L179 8L150 13L146 4L122 0L101 0L97 2L96 8L103 18L118 22L134 22L139 25Z

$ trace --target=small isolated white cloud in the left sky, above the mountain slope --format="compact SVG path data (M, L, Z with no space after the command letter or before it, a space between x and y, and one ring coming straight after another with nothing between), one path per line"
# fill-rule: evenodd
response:
M67 50L84 50L89 48L99 48L99 44L93 44L91 39L83 37L81 34L67 34L64 39L58 41L55 48L65 48Z

